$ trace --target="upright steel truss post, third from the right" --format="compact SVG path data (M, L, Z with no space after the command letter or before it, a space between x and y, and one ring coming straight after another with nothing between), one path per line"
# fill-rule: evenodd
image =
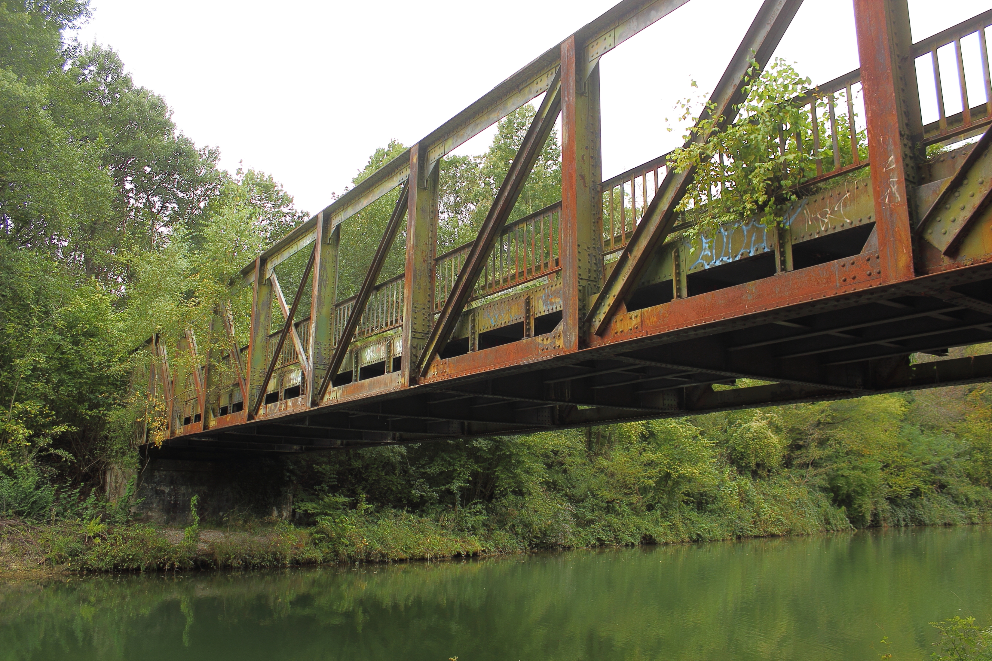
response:
M400 382L415 384L421 353L434 321L434 253L436 252L437 182L440 162L428 171L428 151L410 148L407 204L407 266L403 282L403 358Z

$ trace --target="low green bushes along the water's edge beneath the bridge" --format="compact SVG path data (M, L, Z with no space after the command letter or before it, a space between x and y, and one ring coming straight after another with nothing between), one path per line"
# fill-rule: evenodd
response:
M8 477L0 499L20 518L0 536L8 565L108 571L981 523L992 518L988 397L945 388L297 458L278 466L292 521L231 512L186 530L128 523L95 497L29 523Z

